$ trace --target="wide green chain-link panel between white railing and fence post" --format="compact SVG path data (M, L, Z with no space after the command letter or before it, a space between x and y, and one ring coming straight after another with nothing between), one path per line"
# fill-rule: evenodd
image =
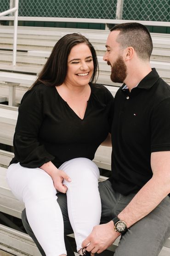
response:
M19 16L115 18L117 0L19 0Z

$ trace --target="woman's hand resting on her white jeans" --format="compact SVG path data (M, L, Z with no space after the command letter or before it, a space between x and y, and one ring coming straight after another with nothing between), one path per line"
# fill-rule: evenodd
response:
M57 191L66 193L67 187L66 185L62 184L62 181L65 179L70 182L71 179L64 171L57 169L57 167L55 167L51 161L43 164L40 168L51 176L54 187L57 189Z

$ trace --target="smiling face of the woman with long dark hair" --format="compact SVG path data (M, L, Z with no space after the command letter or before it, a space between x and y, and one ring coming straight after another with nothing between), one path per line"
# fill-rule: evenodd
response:
M93 58L90 48L85 43L74 46L68 55L68 71L65 78L67 85L87 85L93 75Z

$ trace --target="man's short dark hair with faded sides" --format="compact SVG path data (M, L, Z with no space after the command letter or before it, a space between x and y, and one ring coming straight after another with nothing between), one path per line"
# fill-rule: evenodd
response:
M125 49L133 47L136 54L143 60L149 60L153 42L149 30L140 23L122 23L115 25L110 31L120 30L117 42Z

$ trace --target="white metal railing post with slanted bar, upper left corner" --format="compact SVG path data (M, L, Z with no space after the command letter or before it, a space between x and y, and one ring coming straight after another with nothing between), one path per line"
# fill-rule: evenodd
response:
M13 38L13 58L12 65L16 65L16 56L17 56L17 24L18 24L18 1L15 0L15 7L10 8L7 11L0 12L0 17L4 18L7 14L14 12L14 17L11 17L14 20L14 38Z

